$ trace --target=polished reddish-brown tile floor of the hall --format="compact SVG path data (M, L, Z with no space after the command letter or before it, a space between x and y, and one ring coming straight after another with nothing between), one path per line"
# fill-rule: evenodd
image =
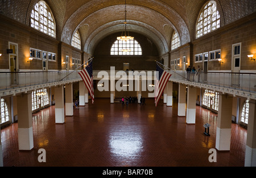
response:
M173 107L148 99L146 105L94 104L74 109L73 117L55 124L55 107L33 114L34 149L18 150L18 124L1 130L5 167L243 167L246 129L232 124L230 151L217 151L217 162L208 153L215 148L217 114L197 106L196 125L187 125ZM204 135L210 123L210 136ZM39 163L38 150L46 150Z

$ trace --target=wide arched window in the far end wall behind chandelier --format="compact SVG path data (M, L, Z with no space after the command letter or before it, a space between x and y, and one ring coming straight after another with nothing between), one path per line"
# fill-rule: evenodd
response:
M141 45L137 40L116 40L110 50L110 55L142 55Z

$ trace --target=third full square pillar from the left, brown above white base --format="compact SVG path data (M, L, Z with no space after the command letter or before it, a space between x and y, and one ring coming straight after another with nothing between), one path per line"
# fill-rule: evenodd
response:
M65 85L65 114L73 115L73 84Z

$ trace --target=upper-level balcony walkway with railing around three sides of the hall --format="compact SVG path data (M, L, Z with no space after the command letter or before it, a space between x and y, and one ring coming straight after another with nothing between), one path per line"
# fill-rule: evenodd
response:
M256 73L167 71L170 81L256 100ZM93 71L94 80L155 80L155 71ZM79 71L0 72L0 97L82 81Z

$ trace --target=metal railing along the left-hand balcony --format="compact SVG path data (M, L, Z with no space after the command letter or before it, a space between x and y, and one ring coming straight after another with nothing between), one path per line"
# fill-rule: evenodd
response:
M66 77L67 76L67 77ZM64 78L65 77L65 78ZM57 72L0 72L0 90L42 85L59 81L78 80L77 71Z

